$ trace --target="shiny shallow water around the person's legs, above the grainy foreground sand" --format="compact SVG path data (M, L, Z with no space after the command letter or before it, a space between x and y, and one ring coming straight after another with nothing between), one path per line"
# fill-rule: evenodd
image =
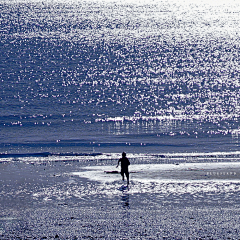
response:
M22 211L36 205L89 208L94 203L120 204L125 198L126 203L131 199L144 200L156 207L158 204L226 207L240 203L239 162L131 164L130 185L124 189L126 181L122 182L120 173L107 173L117 170L115 163L106 160L2 163L1 209L17 207ZM106 198L109 202L101 203Z

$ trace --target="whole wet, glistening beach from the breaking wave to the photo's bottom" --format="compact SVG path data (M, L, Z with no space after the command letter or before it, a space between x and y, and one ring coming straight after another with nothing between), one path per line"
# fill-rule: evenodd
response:
M240 236L238 164L135 165L124 191L94 164L1 163L0 239Z

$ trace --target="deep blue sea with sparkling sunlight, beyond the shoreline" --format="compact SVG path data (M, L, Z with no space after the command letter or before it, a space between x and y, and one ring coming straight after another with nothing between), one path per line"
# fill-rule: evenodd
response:
M237 160L239 14L237 0L1 0L1 158Z

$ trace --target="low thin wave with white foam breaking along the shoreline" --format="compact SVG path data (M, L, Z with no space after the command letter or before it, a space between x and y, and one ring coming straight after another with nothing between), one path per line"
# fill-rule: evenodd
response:
M107 161L117 160L120 153L78 153L78 152L38 152L38 153L1 153L0 162L5 161ZM240 151L232 152L177 152L177 153L131 153L128 152L131 164L181 164L203 162L238 162Z

